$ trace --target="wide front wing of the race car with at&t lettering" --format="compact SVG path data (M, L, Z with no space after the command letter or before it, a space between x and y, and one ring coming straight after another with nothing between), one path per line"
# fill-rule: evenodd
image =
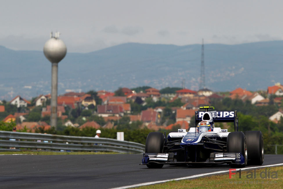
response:
M243 165L245 163L244 156L239 153L210 153L210 157L204 162L179 162L174 159L174 153L144 153L142 164L187 164L187 165L215 165L215 164L231 164Z

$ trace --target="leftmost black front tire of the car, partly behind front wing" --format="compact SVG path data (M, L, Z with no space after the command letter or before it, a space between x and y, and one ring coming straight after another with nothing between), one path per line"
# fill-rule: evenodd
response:
M145 142L145 153L163 153L164 143L165 136L163 133L149 133ZM146 166L148 168L161 168L163 167L163 164L152 163Z

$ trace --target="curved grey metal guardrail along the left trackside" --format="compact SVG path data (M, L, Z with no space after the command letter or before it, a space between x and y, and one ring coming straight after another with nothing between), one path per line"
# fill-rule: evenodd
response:
M111 138L0 131L0 151L114 151L143 153L145 145Z

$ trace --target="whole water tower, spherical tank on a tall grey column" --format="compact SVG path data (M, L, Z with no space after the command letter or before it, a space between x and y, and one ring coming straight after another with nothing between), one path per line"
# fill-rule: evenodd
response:
M59 32L50 34L50 39L45 43L43 52L45 57L52 63L51 69L51 117L50 125L57 127L57 88L58 88L58 63L65 57L67 48L59 39Z

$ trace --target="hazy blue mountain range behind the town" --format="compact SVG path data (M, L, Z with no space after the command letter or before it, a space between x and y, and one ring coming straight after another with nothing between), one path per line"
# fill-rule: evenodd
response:
M68 47L67 47L68 48ZM266 90L282 82L283 41L237 45L205 44L206 87ZM0 46L0 100L31 99L51 92L51 63L43 51ZM58 95L66 91L109 90L148 85L157 89L199 89L201 44L176 46L126 43L91 53L68 53L59 63ZM283 83L283 82L282 82Z

